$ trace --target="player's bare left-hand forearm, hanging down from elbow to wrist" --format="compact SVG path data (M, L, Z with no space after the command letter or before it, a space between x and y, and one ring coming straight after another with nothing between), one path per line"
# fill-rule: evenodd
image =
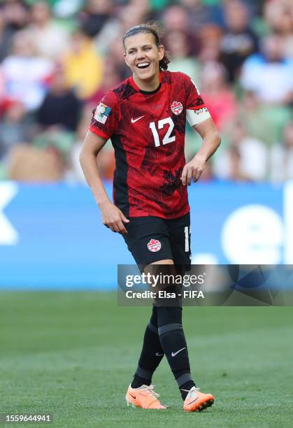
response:
M83 169L83 173L85 174L87 184L92 190L94 199L97 202L97 205L101 208L103 204L110 202L110 199L108 198L103 181L101 180L97 165L97 157L92 153L82 151L80 153L80 165Z

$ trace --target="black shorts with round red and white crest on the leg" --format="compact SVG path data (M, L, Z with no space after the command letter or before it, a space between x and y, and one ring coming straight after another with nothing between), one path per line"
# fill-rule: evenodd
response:
M190 269L190 213L173 220L160 217L131 217L124 224L128 249L140 267L159 260L172 259L174 264Z

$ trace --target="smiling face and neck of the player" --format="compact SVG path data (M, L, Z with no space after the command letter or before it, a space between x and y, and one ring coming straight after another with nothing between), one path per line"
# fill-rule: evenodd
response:
M155 43L150 33L138 33L124 41L126 64L134 74L134 82L142 90L155 90L159 85L159 61L164 47Z

